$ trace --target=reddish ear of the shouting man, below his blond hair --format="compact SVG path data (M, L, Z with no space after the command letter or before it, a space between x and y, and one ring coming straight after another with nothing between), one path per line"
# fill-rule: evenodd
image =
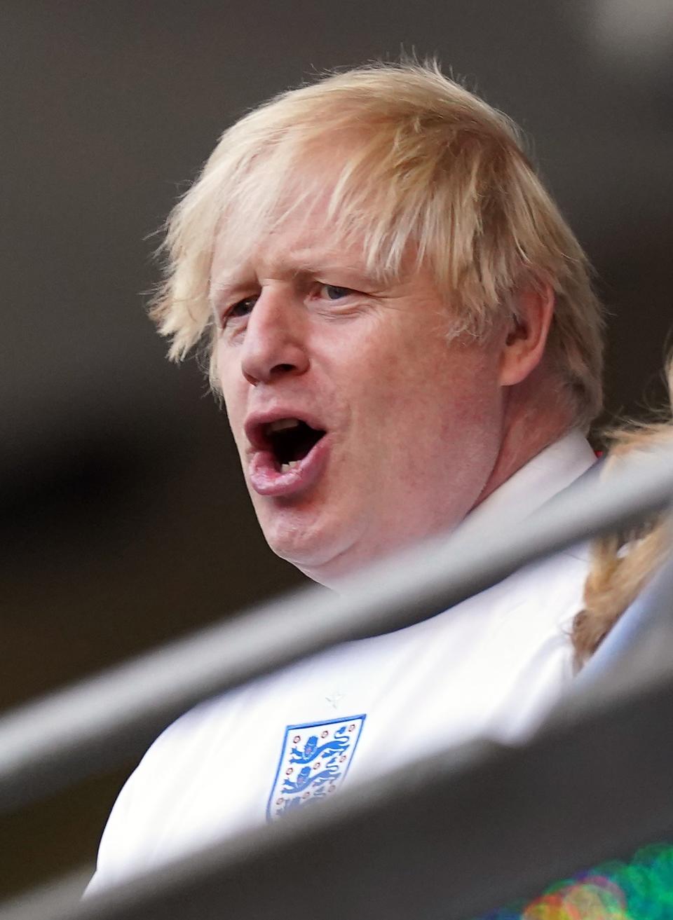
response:
M505 328L501 352L501 386L520 384L542 359L554 312L551 284L516 293L516 312Z

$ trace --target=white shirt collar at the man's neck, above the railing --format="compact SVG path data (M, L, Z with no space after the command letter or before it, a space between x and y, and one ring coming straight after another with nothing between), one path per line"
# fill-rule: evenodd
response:
M595 463L596 454L584 434L568 431L477 505L459 525L460 534L482 529L489 520L506 521L507 526L521 523Z

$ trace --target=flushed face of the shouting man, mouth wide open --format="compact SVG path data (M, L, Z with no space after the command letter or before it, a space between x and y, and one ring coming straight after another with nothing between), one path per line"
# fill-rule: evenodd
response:
M457 524L502 438L500 348L448 341L427 270L388 286L320 208L259 241L215 247L217 375L273 550L330 584Z

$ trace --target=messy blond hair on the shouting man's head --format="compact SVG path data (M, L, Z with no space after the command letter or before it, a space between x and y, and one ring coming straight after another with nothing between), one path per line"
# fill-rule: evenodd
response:
M288 213L305 211L316 184L302 184L302 167L327 145L342 151L328 205L331 238L364 239L367 268L390 278L411 246L450 300L458 331L486 335L512 315L517 290L551 284L548 353L575 423L587 425L601 405L602 319L586 257L516 126L435 63L327 75L222 135L168 219L165 281L152 315L171 339L169 356L182 359L209 331L212 339L215 236L226 237L236 264Z

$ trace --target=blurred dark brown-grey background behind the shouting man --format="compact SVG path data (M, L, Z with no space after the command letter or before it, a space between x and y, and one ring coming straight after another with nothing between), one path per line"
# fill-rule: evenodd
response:
M299 580L144 292L219 133L323 68L436 53L518 121L609 306L603 422L661 403L670 0L4 0L0 48L0 707ZM126 772L6 819L0 895L93 864Z

